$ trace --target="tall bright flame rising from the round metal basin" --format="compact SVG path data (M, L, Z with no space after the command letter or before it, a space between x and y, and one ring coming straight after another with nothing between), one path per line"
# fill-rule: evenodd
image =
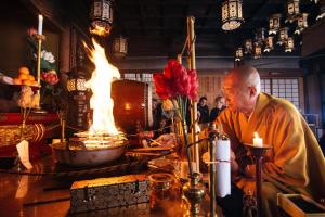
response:
M114 101L110 97L110 89L114 78L120 78L120 74L114 65L108 63L105 49L96 43L94 39L92 39L92 43L93 49L83 42L90 60L95 65L91 79L86 84L92 90L90 107L93 108L93 118L89 132L92 135L118 135L120 132L115 126L113 116Z

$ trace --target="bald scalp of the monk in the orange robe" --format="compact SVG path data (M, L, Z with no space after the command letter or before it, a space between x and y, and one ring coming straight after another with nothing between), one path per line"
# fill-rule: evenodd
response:
M261 79L258 71L251 65L243 65L230 71L225 79L231 79L239 87L255 87L258 93L261 90Z

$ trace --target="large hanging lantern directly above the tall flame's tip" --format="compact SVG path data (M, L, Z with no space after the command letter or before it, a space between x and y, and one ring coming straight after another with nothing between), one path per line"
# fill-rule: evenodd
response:
M90 33L99 36L107 36L113 24L112 0L93 0L91 7Z

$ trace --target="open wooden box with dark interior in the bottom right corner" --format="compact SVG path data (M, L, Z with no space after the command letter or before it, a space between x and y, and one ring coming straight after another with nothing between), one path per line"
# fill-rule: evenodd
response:
M325 216L325 207L302 194L277 194L281 212L294 217ZM286 215L286 216L287 216Z

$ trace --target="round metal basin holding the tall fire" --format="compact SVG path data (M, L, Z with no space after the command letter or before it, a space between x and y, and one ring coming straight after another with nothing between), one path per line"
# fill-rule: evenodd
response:
M68 146L67 146L68 144ZM86 149L76 142L52 144L53 158L60 164L76 167L98 166L119 158L126 152L126 143L105 148Z

